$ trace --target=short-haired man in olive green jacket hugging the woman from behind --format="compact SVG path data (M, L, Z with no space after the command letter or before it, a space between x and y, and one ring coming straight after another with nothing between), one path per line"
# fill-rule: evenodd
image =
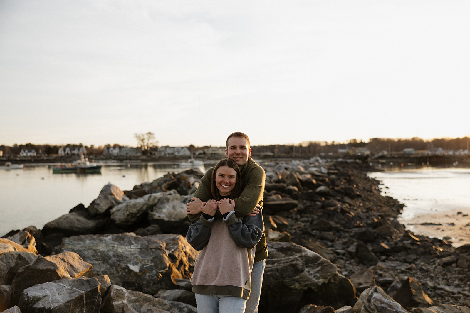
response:
M235 215L245 216L248 214L259 214L256 206L263 207L263 195L266 174L253 159L251 159L250 139L242 132L235 132L227 137L227 148L225 155L232 159L240 168L242 175L242 185L244 187L240 197L235 200ZM186 211L190 221L199 220L201 214L201 205L211 199L211 176L213 168L210 168L201 179L201 183L186 206ZM253 213L252 213L253 212ZM217 210L216 218L221 218L222 214ZM263 284L263 275L268 257L266 237L263 237L256 245L256 254L251 272L251 293L246 302L245 313L257 313L259 296L261 294L261 285Z

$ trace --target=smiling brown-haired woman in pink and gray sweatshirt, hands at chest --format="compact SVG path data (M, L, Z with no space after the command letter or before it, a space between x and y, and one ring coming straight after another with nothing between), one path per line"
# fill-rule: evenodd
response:
M243 313L251 290L255 246L264 231L263 216L235 216L241 191L240 169L234 160L220 160L212 171L212 200L202 204L199 221L193 221L186 239L197 257L191 277L199 312ZM219 208L222 219L215 219Z

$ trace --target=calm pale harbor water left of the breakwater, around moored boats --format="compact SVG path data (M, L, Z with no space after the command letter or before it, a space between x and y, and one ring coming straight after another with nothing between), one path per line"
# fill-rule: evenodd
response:
M213 164L212 164L213 165ZM208 165L210 166L210 165ZM0 237L12 229L43 226L83 203L88 206L107 183L121 190L188 168L175 164L108 164L101 174L52 174L52 165L0 169ZM204 166L199 167L204 173Z

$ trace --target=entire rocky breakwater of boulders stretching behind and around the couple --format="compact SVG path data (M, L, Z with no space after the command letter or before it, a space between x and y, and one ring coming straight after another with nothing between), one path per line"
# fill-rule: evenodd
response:
M470 246L417 236L356 162L263 164L260 312L470 313ZM0 312L197 312L186 203L203 173L108 184L43 229L0 239Z

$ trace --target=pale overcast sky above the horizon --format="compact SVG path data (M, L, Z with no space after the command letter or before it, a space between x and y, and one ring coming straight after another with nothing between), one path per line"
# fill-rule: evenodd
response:
M470 1L1 0L0 144L470 136Z

